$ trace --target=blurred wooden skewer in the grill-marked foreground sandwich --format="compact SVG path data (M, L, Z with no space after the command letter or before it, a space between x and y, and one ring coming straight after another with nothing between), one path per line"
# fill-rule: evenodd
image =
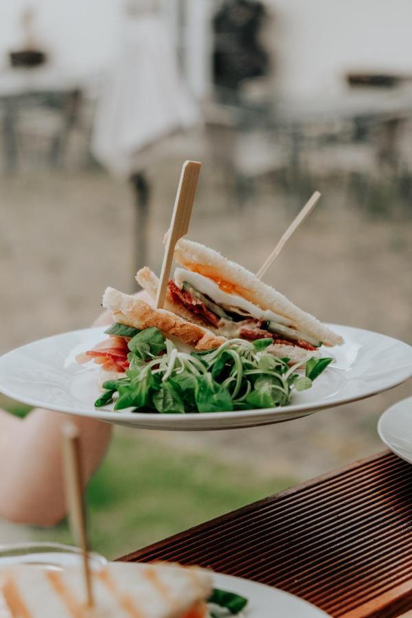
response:
M82 550L84 583L86 584L87 605L94 606L89 566L86 516L82 490L82 468L80 466L80 439L78 429L67 422L62 429L63 461L65 468L65 490L69 507L70 524L76 545Z

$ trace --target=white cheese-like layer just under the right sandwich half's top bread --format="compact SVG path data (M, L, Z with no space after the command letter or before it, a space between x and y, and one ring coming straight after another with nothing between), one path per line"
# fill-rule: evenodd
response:
M248 312L252 317L258 320L273 320L278 324L293 326L293 323L284 316L280 316L270 309L263 310L241 296L222 290L216 281L209 279L200 273L185 271L184 268L176 268L176 271L174 271L174 280L179 287L181 287L184 281L187 281L187 283L193 286L196 290L207 295L220 306L229 306L233 308L238 307L239 309ZM225 334L225 336L227 336L227 334ZM235 335L232 334L231 336Z

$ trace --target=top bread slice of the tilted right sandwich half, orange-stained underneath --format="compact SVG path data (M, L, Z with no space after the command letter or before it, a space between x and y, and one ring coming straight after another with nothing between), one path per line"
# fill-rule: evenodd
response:
M174 260L189 271L195 271L214 279L219 286L229 287L232 294L237 294L251 301L261 309L290 319L295 328L313 336L323 345L342 345L343 339L317 318L302 311L283 294L264 284L247 268L224 258L218 251L203 244L181 238L174 249Z

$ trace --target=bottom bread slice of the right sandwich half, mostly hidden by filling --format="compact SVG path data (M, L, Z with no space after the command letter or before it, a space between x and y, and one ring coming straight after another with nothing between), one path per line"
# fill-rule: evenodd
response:
M156 298L157 286L159 286L159 278L157 277L157 275L155 275L155 273L153 273L153 271L150 270L150 268L148 268L148 266L141 268L137 272L136 280L139 285L141 285L141 287L150 294L152 299ZM187 310L183 305L175 303L173 301L172 297L170 296L169 290L165 298L165 308L195 324L201 326L203 325L203 322L199 320L196 315L192 314L192 312ZM214 328L211 325L209 326L209 329L216 334L218 334L219 332L217 328ZM319 356L321 356L319 350L309 351L304 350L302 347L299 347L297 345L284 345L282 343L275 343L271 345L268 349L268 352L271 352L271 354L277 356L277 358L290 358L290 361L292 361L293 363L300 363L303 361L307 361L308 358L319 358Z

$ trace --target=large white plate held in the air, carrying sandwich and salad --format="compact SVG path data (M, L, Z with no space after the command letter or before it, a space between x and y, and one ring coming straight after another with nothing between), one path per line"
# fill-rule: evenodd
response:
M104 339L102 328L59 334L23 345L0 358L0 392L23 403L130 427L172 430L233 429L293 420L323 408L375 395L412 375L412 347L376 332L332 325L345 344L332 348L334 363L286 407L209 414L114 412L95 409L98 367L78 365L76 354Z

